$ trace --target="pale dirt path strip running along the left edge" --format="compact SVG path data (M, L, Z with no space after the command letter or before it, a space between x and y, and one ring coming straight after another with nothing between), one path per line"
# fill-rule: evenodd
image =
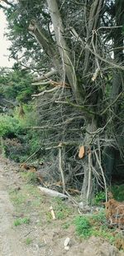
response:
M20 244L17 231L12 229L13 206L9 200L7 187L12 181L7 179L7 162L0 159L0 255L23 256L33 255Z

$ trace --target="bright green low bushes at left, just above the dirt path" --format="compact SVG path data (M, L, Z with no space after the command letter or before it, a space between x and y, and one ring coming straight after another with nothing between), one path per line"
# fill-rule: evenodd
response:
M25 115L19 116L19 108L9 114L0 114L0 137L4 138L1 147L7 157L16 162L24 162L41 146L39 132L30 127L36 126L35 109L31 105L23 104Z

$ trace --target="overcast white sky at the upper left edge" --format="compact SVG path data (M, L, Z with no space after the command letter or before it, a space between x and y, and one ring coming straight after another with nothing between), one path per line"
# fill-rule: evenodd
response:
M12 67L14 61L8 60L9 51L7 48L11 45L10 41L7 41L6 36L3 36L7 28L6 17L0 9L0 66Z

